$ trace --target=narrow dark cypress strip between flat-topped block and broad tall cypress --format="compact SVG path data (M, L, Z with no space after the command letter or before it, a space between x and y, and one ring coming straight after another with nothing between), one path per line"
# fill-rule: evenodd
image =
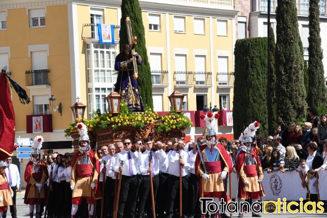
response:
M269 81L270 81L270 110L268 108L268 120L269 120L269 127L268 133L272 135L276 129L278 118L276 113L276 72L275 72L275 35L272 28L270 28L270 74L269 74Z

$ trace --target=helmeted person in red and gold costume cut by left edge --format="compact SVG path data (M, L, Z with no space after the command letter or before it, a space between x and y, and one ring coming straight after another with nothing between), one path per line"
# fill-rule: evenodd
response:
M12 205L13 191L8 185L8 179L6 177L5 169L8 167L8 163L0 161L0 217L7 207Z

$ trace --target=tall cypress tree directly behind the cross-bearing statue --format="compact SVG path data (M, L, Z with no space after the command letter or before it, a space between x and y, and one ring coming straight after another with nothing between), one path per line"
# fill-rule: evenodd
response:
M143 60L142 66L137 66L138 69L138 88L141 93L143 103L146 107L153 108L152 101L152 83L151 83L151 70L148 61L147 49L145 46L145 34L142 20L142 11L139 7L138 0L123 0L122 1L122 18L121 29L119 31L119 44L122 47L123 44L128 43L126 17L131 20L131 28L133 36L137 37L137 43L135 45L135 52L141 55Z

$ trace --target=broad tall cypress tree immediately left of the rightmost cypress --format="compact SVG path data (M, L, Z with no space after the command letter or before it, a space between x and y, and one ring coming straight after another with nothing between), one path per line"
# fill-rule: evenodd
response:
M277 0L277 5L275 51L277 114L283 122L294 122L303 117L307 107L297 9L295 0Z

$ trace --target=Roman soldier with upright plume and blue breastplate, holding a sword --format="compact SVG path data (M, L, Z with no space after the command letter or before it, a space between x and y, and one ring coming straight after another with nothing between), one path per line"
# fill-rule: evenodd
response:
M223 198L225 202L228 202L230 199L226 194L224 179L228 173L232 172L232 162L224 146L217 142L217 134L214 129L215 118L218 119L219 115L216 114L214 117L213 112L208 112L201 118L206 122L208 131L206 133L206 146L200 148L195 160L195 173L200 177L200 197L214 198L217 203L219 203L220 198ZM202 214L201 217L205 217L205 214ZM219 212L215 214L215 218L218 217L221 217Z

